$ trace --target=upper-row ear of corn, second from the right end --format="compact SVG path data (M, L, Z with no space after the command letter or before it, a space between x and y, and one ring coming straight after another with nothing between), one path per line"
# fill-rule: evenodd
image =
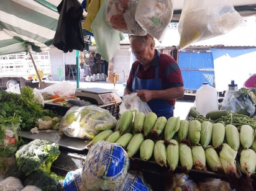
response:
M234 125L231 125L231 124L226 125L225 137L227 140L227 144L229 144L229 146L231 146L232 149L237 151L240 146L239 131Z

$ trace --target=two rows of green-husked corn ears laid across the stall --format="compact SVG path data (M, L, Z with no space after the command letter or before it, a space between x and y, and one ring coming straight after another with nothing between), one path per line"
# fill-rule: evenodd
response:
M256 129L250 125L234 125L180 117L157 117L127 110L122 113L115 130L105 130L89 145L100 140L121 144L130 158L154 160L160 166L175 171L181 166L187 171L224 172L249 177L256 167ZM237 169L237 163L240 168Z

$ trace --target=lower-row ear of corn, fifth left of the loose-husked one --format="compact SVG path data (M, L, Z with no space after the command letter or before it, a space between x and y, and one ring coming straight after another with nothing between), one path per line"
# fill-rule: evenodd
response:
M155 142L153 157L159 166L167 166L166 146L163 140Z

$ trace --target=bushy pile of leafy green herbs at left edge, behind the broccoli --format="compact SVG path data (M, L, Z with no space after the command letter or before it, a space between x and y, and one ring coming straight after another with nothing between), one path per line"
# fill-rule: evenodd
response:
M30 130L43 116L55 117L57 114L36 102L32 87L23 87L21 94L0 91L0 124L17 122L21 130Z

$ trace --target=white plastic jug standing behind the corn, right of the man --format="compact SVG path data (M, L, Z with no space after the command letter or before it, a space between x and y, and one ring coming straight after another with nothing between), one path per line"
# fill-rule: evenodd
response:
M205 117L206 113L219 110L217 91L208 82L196 91L196 110Z

